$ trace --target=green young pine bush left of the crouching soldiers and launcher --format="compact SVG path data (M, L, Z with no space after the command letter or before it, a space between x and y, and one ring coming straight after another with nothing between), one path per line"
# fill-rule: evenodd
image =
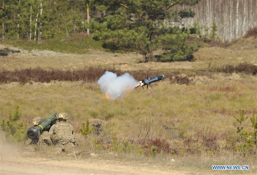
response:
M13 114L9 114L9 119L1 121L1 130L5 131L8 142L21 142L27 138L27 125L19 122L20 117L19 106L16 105Z

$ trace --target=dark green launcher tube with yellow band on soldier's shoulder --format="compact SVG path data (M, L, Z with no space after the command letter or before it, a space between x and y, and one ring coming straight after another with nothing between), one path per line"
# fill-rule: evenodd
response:
M30 139L38 139L39 136L44 132L44 131L49 131L51 126L56 123L58 114L52 114L49 117L43 118L41 121L39 121L39 124L35 127L29 127L27 130L27 136Z

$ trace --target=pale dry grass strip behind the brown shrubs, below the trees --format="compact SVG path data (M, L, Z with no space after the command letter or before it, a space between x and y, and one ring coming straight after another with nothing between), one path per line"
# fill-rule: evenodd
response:
M219 67L226 64L239 64L243 62L257 64L257 38L250 37L241 39L237 43L227 48L204 47L194 53L194 62L148 62L138 63L142 58L136 53L109 53L91 50L89 54L65 54L47 50L21 50L20 53L9 54L0 57L1 70L14 70L20 68L44 69L54 68L63 70L76 70L90 66L115 66L116 68L127 70L140 69L206 69L210 66ZM8 47L19 50L11 46L0 44L0 49Z

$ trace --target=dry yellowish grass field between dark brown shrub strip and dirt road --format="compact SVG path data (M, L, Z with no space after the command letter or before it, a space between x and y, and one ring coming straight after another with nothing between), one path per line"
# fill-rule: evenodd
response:
M29 125L36 116L67 112L69 123L78 134L79 146L75 151L81 159L150 162L172 168L203 168L204 171L214 163L244 163L251 165L253 172L256 163L242 157L238 160L240 156L232 151L230 136L236 135L233 115L237 115L238 109L245 109L247 116L257 111L256 78L215 74L211 80L201 80L188 86L164 80L156 83L153 89L136 89L128 93L123 101L106 99L96 83L1 84L1 117L8 117L16 104L20 105L22 121ZM138 98L141 96L144 98ZM111 113L112 117L106 118L107 113ZM79 127L86 119L89 119L90 125L102 124L99 136L91 134L84 138L79 134ZM250 131L248 121L244 123L244 129ZM113 137L118 138L118 144L129 141L141 146L146 155L151 153L151 146L157 146L159 154L150 158L136 151L115 152L112 150ZM95 144L102 145L100 151ZM47 154L52 151L51 148L36 152ZM92 157L92 152L97 156ZM222 156L225 152L229 154L229 159ZM60 158L67 155L54 156ZM170 161L172 158L175 163Z

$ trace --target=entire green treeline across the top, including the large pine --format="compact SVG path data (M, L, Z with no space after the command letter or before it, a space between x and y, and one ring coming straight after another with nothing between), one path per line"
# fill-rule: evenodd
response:
M42 40L91 33L111 51L133 51L145 61L192 60L200 27L170 26L194 17L198 0L0 0L2 40ZM183 8L179 8L182 7ZM216 24L213 25L215 32ZM215 33L210 36L215 38ZM161 54L156 54L162 49Z

